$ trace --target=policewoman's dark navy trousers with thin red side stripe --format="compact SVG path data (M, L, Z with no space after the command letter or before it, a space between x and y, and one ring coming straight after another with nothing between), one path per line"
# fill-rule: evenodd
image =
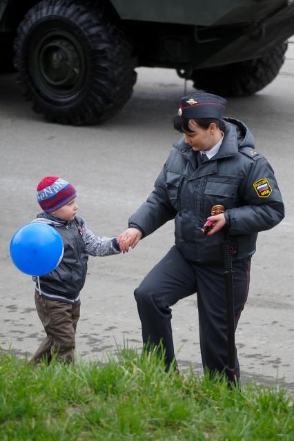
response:
M235 326L247 300L251 258L233 264ZM222 266L189 262L173 246L135 290L144 344L162 342L166 364L175 357L171 308L178 300L197 293L202 364L223 373L227 364L226 295ZM239 362L235 352L235 374Z

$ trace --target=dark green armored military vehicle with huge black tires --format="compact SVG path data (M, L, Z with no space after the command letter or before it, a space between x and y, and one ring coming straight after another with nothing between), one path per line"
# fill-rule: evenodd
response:
M0 0L1 64L13 41L24 97L61 124L119 112L137 66L173 68L218 95L251 95L275 78L293 33L286 0Z

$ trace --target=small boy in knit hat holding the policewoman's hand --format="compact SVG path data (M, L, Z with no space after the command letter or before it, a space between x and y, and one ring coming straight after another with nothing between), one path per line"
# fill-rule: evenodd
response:
M37 313L47 336L32 357L31 363L42 359L74 362L75 331L79 320L80 291L83 288L88 255L119 254L117 239L96 237L77 217L75 188L56 176L44 177L37 187L37 199L43 212L33 222L42 222L55 228L62 237L64 252L54 271L39 277L36 284ZM33 277L36 282L37 277Z

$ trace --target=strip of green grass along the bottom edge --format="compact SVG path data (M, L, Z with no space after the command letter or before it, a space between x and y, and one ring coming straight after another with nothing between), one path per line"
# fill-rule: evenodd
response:
M153 353L30 366L0 353L0 440L294 440L293 395L164 373Z

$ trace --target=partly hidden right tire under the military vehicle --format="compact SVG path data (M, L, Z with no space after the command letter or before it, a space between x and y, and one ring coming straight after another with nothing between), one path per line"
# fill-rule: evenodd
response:
M253 95L271 83L284 63L287 43L268 52L261 58L194 70L191 79L194 87L224 97Z

